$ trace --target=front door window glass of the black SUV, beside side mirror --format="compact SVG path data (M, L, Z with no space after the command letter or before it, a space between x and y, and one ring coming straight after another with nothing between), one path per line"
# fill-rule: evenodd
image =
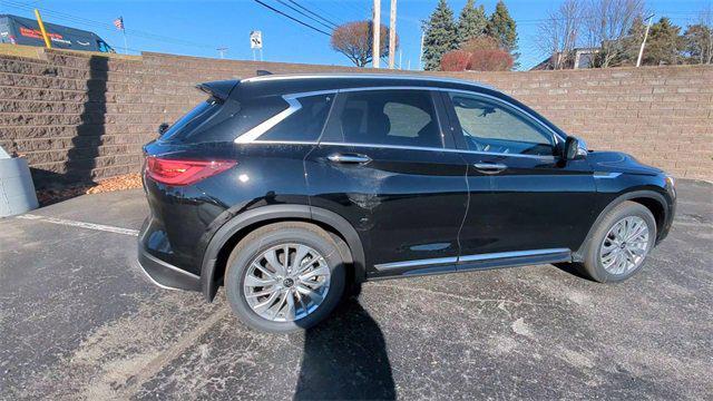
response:
M553 156L551 133L531 118L477 95L450 92L469 150Z

